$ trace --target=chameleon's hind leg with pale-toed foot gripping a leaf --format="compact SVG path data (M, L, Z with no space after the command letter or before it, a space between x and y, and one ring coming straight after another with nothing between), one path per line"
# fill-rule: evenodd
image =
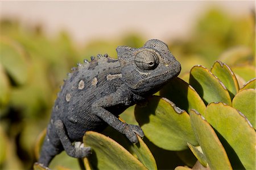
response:
M56 120L54 125L57 131L57 135L60 138L60 142L69 156L82 158L91 154L90 147L83 147L83 145L80 145L77 142L75 143L75 146L73 146L71 140L68 138L64 123L60 119Z

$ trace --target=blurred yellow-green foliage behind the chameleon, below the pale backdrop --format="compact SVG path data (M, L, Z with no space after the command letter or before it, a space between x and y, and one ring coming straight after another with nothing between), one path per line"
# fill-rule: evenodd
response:
M238 83L248 81L243 75L255 70L254 21L255 14L233 18L213 9L199 18L188 38L166 42L182 65L180 77L188 78L193 65L210 67L217 59L223 59L241 77ZM117 57L118 45L141 47L147 40L134 33L115 40L92 40L83 46L73 42L68 32L49 38L43 26L22 26L15 19L2 19L0 29L1 169L32 168L36 137L47 126L59 86L76 63L98 53ZM127 123L135 122L133 108L121 115ZM60 161L71 169L78 166L65 153L56 156L53 164Z

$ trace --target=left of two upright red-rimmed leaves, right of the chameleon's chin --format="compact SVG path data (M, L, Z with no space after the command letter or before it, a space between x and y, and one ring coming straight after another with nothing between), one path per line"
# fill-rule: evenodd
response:
M224 84L207 68L196 65L190 71L189 84L204 99L206 104L211 102L224 102L232 105L229 92Z

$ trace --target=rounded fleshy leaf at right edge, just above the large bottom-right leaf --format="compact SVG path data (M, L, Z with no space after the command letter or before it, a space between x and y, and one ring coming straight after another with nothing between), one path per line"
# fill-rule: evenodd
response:
M250 121L253 127L256 127L256 89L241 90L233 98L232 106L241 111Z

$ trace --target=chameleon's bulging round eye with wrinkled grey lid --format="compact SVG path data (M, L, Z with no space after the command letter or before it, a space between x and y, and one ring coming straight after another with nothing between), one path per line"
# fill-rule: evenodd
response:
M155 69L159 64L158 55L154 51L144 49L136 54L135 64L142 70Z

